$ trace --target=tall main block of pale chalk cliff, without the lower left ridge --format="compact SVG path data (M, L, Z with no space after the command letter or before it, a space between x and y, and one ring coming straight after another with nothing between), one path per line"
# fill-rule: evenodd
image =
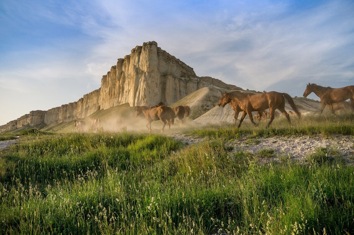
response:
M124 59L118 59L102 77L100 106L107 109L123 103L152 106L160 102L170 105L210 85L242 90L211 77L199 78L193 68L162 50L156 42L146 42Z

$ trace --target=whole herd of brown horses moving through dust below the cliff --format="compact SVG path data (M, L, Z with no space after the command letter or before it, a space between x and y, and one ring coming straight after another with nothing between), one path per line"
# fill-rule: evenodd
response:
M310 93L314 92L321 99L321 110L320 114L322 114L325 106L327 105L331 109L331 113L334 114L334 111L339 108L344 108L344 105L349 106L354 110L354 86L346 86L342 88L331 88L331 87L323 87L316 84L307 84L306 90L303 94L303 97L307 97ZM285 110L285 99L290 104L291 108L295 113L289 111L289 113ZM346 101L350 99L350 105ZM293 99L287 93L280 93L276 91L265 92L261 94L254 94L250 92L241 92L241 91L231 91L222 94L219 99L218 106L225 107L225 105L230 104L232 109L235 111L234 119L235 124L237 122L237 118L239 113L242 111L242 116L239 122L238 127L241 126L242 121L246 117L249 116L253 125L258 126L253 117L257 118L257 120L261 120L262 118L267 120L269 117L269 122L267 124L268 128L270 124L272 124L275 117L279 116L279 113L276 111L278 109L282 115L284 115L291 124L290 115L298 116L301 118L301 113L298 110L298 107L295 105ZM269 109L269 111L265 111L265 109ZM252 111L256 111L257 115L252 116ZM148 123L146 127L149 132L152 132L151 123L152 121L161 120L164 125L162 126L161 132L164 132L166 124L169 125L169 130L171 129L171 124L174 123L175 118L177 117L181 120L181 125L183 124L183 118L188 117L190 114L189 106L177 106L177 107L168 107L164 104L156 105L152 107L148 106L137 106L135 111L135 116L143 114L147 119ZM95 131L101 125L101 121L99 119L90 118L91 128ZM75 120L76 130L84 130L85 122L84 121L76 121Z

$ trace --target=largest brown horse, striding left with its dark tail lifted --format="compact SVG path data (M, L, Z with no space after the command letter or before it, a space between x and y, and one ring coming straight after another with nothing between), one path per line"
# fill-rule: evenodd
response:
M281 113L286 116L289 124L291 124L289 114L285 111L285 98L290 104L291 108L295 111L297 116L300 118L301 113L297 109L293 99L287 93L279 93L276 91L270 91L262 94L255 94L249 96L239 91L225 92L220 97L218 105L225 107L226 104L230 103L231 100L238 102L238 105L243 110L242 117L238 127L241 126L242 121L245 119L246 114L250 117L250 120L253 125L258 126L252 117L252 111L262 111L269 108L270 121L268 122L267 128L270 126L274 120L274 112L276 109L279 109Z

